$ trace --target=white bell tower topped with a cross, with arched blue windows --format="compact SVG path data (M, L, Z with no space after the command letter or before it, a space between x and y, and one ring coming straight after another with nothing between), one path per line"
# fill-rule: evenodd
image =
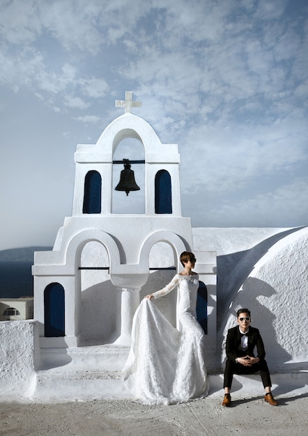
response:
M64 219L53 250L37 252L33 265L34 318L43 348L77 347L91 338L130 345L139 292L155 270L149 263L152 247L168 244L174 272L181 268L180 253L194 251L190 218L181 215L178 146L161 143L151 125L131 113L140 105L127 92L116 102L125 114L97 143L77 146L72 217ZM144 147L138 162L145 177L142 214L112 213L114 153L128 138ZM134 195L121 194L123 201ZM197 259L201 275L213 274L213 258L210 267L206 255L198 253ZM160 270L170 269L164 266L162 260Z

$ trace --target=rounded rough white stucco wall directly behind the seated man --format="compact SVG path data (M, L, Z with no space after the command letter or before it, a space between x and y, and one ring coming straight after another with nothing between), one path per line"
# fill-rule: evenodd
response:
M307 247L308 228L302 228L272 244L255 265L250 265L251 272L233 290L219 332L226 334L236 325L238 309L250 309L252 325L260 329L272 371L307 368Z

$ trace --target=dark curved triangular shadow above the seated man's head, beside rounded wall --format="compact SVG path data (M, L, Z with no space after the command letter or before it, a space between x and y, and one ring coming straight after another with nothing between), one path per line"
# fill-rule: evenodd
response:
M217 331L224 328L233 295L240 289L258 260L276 242L302 228L305 226L277 233L249 250L217 256Z

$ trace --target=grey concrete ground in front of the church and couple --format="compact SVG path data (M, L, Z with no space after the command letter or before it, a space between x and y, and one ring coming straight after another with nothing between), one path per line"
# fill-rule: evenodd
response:
M307 373L272 375L277 407L263 399L257 377L238 377L232 407L222 407L222 376L210 377L208 397L170 406L132 398L66 402L6 400L0 403L0 435L307 435Z

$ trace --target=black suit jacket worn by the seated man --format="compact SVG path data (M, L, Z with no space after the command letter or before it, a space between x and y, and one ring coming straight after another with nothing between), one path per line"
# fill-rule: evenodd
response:
M238 325L228 330L226 335L226 357L234 363L237 357L252 356L259 357L260 361L265 358L265 349L261 334L258 329L249 326L248 336L248 350L240 350L240 329ZM254 355L254 348L256 348L256 356Z

